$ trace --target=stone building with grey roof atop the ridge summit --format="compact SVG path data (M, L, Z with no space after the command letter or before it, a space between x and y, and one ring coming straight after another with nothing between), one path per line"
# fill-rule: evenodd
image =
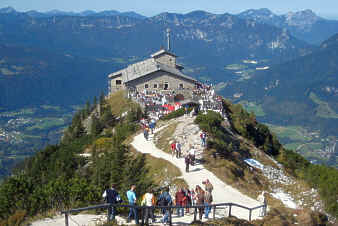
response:
M109 93L125 89L131 92L191 93L199 82L182 73L183 66L176 63L176 58L174 54L161 49L144 61L111 73Z

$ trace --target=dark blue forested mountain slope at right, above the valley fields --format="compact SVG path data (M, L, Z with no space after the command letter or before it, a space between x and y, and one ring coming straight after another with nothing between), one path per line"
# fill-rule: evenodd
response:
M243 99L262 104L270 122L305 125L324 135L338 136L337 35L319 51L255 72L247 82L233 83L226 96L243 92ZM232 94L231 94L232 93Z

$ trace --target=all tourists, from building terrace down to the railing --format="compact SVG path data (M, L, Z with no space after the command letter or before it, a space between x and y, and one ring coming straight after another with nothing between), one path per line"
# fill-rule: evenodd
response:
M136 100L138 103L143 105L148 110L148 118L143 118L140 120L140 124L143 128L143 135L146 140L149 139L149 135L154 133L156 127L156 122L162 116L170 113L171 111L178 110L183 107L179 103L174 103L175 93L163 94L156 91L147 91L143 92L130 92L128 97ZM212 86L202 85L198 89L192 92L192 99L199 102L199 106L195 107L193 111L188 111L188 107L185 107L186 116L190 114L193 116L199 111L214 110L220 113L222 110L222 99L215 95L214 89ZM174 103L174 104L168 104ZM206 146L207 133L202 131L200 134L201 146ZM178 140L174 140L170 144L172 157L184 158L186 165L186 172L189 172L189 166L194 166L196 163L196 148L193 145L189 146L188 150L183 151L182 144ZM204 187L204 189L202 188ZM140 200L136 197L136 186L132 185L130 190L127 191L126 197L129 208L129 214L127 218L127 223L131 220L135 220L136 224L139 224L139 208L137 205L140 204L145 207L143 215L146 224L148 222L156 222L157 214L161 215L161 223L165 224L169 222L169 213L174 210L171 208L166 208L167 206L175 206L176 215L178 217L183 217L185 214L191 214L194 212L190 211L191 206L198 206L198 216L201 220L204 214L205 218L209 217L211 210L210 204L213 201L212 196L213 185L207 179L202 181L201 185L196 185L195 188L181 187L178 188L174 193L169 192L169 188L161 190L160 194L156 195L156 192L152 189L149 189ZM173 192L173 191L171 191ZM106 189L102 195L107 203L110 204L120 204L122 203L121 196L115 190L115 186L111 185L110 188ZM158 206L159 212L154 206ZM190 207L190 208L189 208ZM108 208L108 219L114 220L116 213L116 207L114 205L109 206Z

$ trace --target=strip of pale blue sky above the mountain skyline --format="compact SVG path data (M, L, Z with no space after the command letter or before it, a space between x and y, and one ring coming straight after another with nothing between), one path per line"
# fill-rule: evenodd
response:
M239 13L246 9L269 8L277 14L311 9L319 15L338 18L338 0L0 0L0 8L18 11L52 9L64 11L119 10L146 16L161 12L187 13L205 10L213 13Z

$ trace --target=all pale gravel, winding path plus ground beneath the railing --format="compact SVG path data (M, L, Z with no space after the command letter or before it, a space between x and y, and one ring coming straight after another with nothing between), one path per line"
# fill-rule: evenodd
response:
M187 152L192 145L196 149L196 159L198 160L201 157L201 153L203 151L203 147L200 145L200 129L197 125L193 123L194 118L190 117L181 117L176 119L179 122L176 131L173 135L173 138L180 141L182 144L183 152ZM167 126L167 125L166 125ZM164 127L166 127L164 126ZM155 130L155 133L158 133L164 127ZM204 168L201 164L195 164L195 166L190 166L190 172L185 172L185 164L184 159L176 159L173 158L170 154L167 154L161 150L159 150L153 140L153 135L150 135L149 141L146 141L143 137L143 133L135 136L133 142L131 143L134 148L142 153L150 154L157 158L163 158L170 163L177 166L182 176L181 178L184 179L191 188L194 188L196 185L202 185L202 181L209 179L210 182L214 186L213 190L213 199L214 203L227 203L233 202L239 205L247 206L247 207L255 207L261 205L260 202L240 193L238 190L232 188L231 186L225 184L220 179L218 179L213 173L208 171ZM203 187L203 186L202 186ZM217 210L216 217L224 217L228 216L229 209ZM232 207L231 210L232 215L247 219L249 218L249 211L238 208ZM255 210L252 213L252 219L259 218L259 210ZM212 213L210 214L210 217ZM116 217L119 224L126 224L125 219L117 216ZM69 219L70 226L94 226L97 225L99 222L103 222L106 220L106 215L90 215L90 214L78 214L78 215L71 215ZM157 216L157 220L160 220L159 216ZM184 217L177 217L175 212L173 214L173 225L188 225L193 221L193 214L185 215ZM206 221L203 218L202 221ZM133 223L133 221L132 221ZM35 221L32 223L32 226L62 226L65 225L64 216L56 216L52 219L46 218L39 221ZM161 225L161 224L158 224Z

